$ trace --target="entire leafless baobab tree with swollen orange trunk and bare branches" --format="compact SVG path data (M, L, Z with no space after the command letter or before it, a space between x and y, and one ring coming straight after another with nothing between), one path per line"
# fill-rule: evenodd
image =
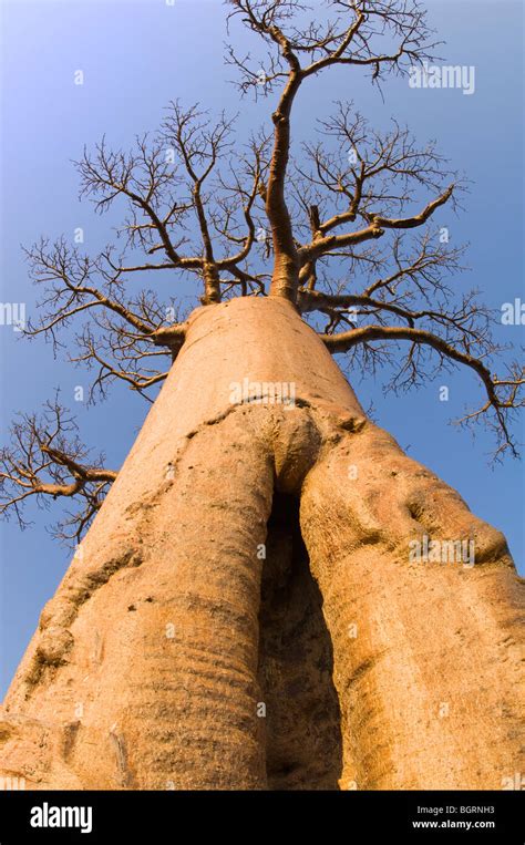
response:
M439 237L462 179L353 103L291 144L313 76L381 85L432 60L425 11L226 7L264 48L227 60L272 101L270 128L243 145L226 115L175 101L130 152L103 140L78 162L97 212L126 209L120 241L27 250L43 293L25 334L60 347L79 326L94 394L162 390L119 471L59 398L1 453L7 515L79 503L4 700L1 771L31 789L501 789L523 771L505 538L372 422L333 358L350 379L388 364L393 389L469 368L463 423L516 451L523 370ZM162 286L137 290L146 276Z

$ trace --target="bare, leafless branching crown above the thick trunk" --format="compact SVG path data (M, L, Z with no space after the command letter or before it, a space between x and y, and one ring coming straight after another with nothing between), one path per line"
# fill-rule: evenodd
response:
M231 297L284 297L348 365L405 390L449 367L480 380L480 405L463 424L486 423L496 455L516 454L511 433L523 405L523 367L502 348L497 317L476 290L460 292L464 247L440 236L439 210L460 209L466 182L434 142L420 144L392 122L377 131L352 102L333 104L312 140L294 145L294 104L311 78L348 65L382 86L435 60L439 43L416 0L227 0L229 24L246 29L258 54L231 44L227 63L241 95L272 104L243 144L235 118L172 102L158 130L113 150L102 138L75 163L81 196L103 214L119 204L122 225L99 255L65 237L25 249L41 288L28 338L66 347L93 372L91 396L115 380L150 399L184 343L177 279L195 282L195 306ZM132 292L132 280L152 279ZM157 277L167 276L156 285ZM343 279L341 281L341 278ZM173 281L173 285L171 284ZM63 330L75 330L74 348ZM50 401L22 415L0 453L0 511L24 525L37 497L80 497L58 532L79 539L116 472L79 439L74 420Z

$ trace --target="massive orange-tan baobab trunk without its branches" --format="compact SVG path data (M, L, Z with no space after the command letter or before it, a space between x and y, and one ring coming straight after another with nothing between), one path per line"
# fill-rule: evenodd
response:
M475 564L411 559L425 537ZM517 592L502 535L367 420L294 306L199 308L8 692L0 773L498 789L524 771Z

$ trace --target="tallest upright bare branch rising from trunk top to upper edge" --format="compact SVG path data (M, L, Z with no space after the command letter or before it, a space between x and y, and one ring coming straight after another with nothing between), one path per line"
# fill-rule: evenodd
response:
M298 0L228 0L234 9L229 19L240 17L243 23L274 48L270 75L265 76L269 89L284 79L284 87L274 121L274 152L271 156L266 210L274 240L274 278L271 293L295 301L300 261L294 237L292 223L285 198L286 176L290 153L290 116L295 97L302 82L311 75L337 64L371 66L372 80L394 70L409 68L431 58L430 30L424 11L410 0L332 0L332 7L342 13L339 18L303 21L307 7ZM300 20L300 25L295 20ZM384 43L397 43L384 50ZM277 53L277 55L275 55ZM301 63L306 56L309 63ZM229 50L229 61L241 73L240 87L246 92L260 83L259 74L250 71L248 60L236 58ZM287 72L284 71L287 69ZM257 91L257 87L256 87ZM375 227L377 228L377 227ZM356 243L356 241L352 241ZM358 241L359 243L359 241Z

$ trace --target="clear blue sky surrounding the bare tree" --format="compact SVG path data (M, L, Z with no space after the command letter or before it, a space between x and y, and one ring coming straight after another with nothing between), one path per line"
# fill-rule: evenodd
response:
M219 0L90 0L24 2L1 6L1 293L2 302L25 302L31 315L35 291L27 276L20 245L40 235L72 238L83 227L85 248L96 253L110 240L112 220L97 218L79 204L71 159L106 133L127 146L135 134L154 130L169 100L200 102L214 112L241 110L240 132L268 123L271 104L240 102L228 84L225 11ZM500 309L523 291L523 6L498 0L428 0L431 20L446 45L449 64L474 65L472 96L459 90L421 91L391 80L384 102L354 72L338 69L301 94L295 141L312 137L313 116L327 116L334 100L353 99L372 125L391 116L408 123L424 142L436 138L454 167L473 181L461 217L444 213L454 243L471 243L467 287L478 287ZM248 35L246 50L250 49ZM76 70L84 84L75 85ZM166 277L163 284L168 285ZM188 288L183 302L188 300ZM173 293L173 290L169 291ZM523 343L524 328L501 329L502 342ZM119 468L148 405L124 387L94 408L74 402L74 388L87 377L42 342L21 340L0 326L2 441L16 411L39 410L55 388L78 415L84 441L104 449L107 465ZM373 399L378 422L455 487L470 507L507 536L523 571L523 470L507 460L491 468L493 445L480 432L475 440L447 424L465 401L480 396L475 377L446 374L416 393L382 395L370 380L352 382L364 405ZM439 401L439 387L450 401ZM518 439L523 442L523 426ZM33 632L40 610L53 595L70 559L45 525L59 508L28 511L34 524L21 533L16 522L0 524L0 697ZM453 597L451 597L453 600Z

